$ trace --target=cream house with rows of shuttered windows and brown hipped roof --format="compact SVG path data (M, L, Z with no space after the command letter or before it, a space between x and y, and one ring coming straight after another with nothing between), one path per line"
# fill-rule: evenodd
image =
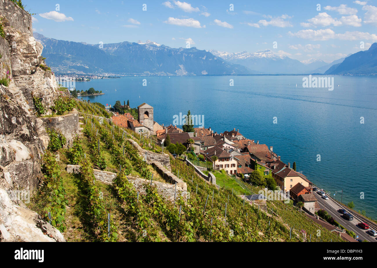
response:
M203 152L204 158L207 161L212 161L212 157L216 156L215 169L225 169L228 174L237 174L237 161L233 155L219 146L213 146Z

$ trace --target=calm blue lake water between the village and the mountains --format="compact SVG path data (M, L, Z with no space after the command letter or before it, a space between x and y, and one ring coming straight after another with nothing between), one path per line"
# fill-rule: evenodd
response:
M130 76L76 82L76 89L102 90L105 95L83 98L104 105L146 102L160 124L173 124L174 115L190 110L204 115L205 128L239 129L248 139L273 146L285 163L296 161L297 171L331 195L343 189L343 203L353 201L356 210L377 218L377 77L334 76L332 91L303 88L302 78Z

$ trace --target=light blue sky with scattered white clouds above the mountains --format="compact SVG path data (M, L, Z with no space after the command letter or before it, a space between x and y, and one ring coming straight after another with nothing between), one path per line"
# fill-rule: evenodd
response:
M331 62L377 42L377 0L23 0L33 31L90 44L154 41L221 52L270 49ZM318 4L319 2L319 4Z

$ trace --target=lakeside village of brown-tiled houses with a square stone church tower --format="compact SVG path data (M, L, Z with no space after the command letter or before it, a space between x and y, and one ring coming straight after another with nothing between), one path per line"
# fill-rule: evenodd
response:
M273 146L247 139L236 128L221 133L213 131L211 127L192 128L192 132L184 132L176 125L160 125L153 120L153 107L149 104L143 103L137 110L138 119L130 113L115 112L112 120L140 135L155 136L159 146L167 146L167 140L169 144L183 145L187 155L192 154L202 160L194 161L203 163L201 167L210 162L214 171L225 171L227 175L237 176L246 182L249 182L249 178L257 170L262 177L272 178L276 183L275 189L270 190L281 191L297 203L302 202L302 208L312 215L320 209L313 194L313 188L316 187L313 187L313 183L305 175L295 170L295 164L291 166L289 162L284 163L273 152ZM171 153L176 155L175 152Z

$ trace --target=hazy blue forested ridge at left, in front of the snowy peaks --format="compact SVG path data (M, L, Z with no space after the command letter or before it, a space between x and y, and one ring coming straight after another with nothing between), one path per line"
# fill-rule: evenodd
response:
M154 42L84 44L46 38L34 33L44 46L43 55L58 72L150 75L246 75L251 70L231 64L196 47L171 48Z

